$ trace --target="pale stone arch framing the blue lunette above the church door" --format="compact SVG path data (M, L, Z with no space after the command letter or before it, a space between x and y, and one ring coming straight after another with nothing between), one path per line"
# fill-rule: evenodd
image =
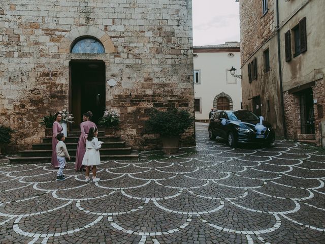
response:
M75 40L80 39L81 37L94 37L101 41L105 48L105 53L115 52L112 39L106 34L106 32L94 26L79 26L73 28L62 38L58 52L70 53Z

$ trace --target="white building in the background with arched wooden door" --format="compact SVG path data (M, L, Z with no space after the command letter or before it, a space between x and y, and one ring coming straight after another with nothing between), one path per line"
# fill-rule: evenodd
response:
M197 46L193 53L196 120L207 121L211 109L240 109L241 80L229 72L240 69L240 43Z

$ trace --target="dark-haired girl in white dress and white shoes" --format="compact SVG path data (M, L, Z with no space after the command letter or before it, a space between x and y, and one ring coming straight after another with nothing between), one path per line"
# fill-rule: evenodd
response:
M86 141L86 153L82 160L82 165L86 166L86 179L88 182L90 168L92 166L92 181L99 181L100 178L96 177L97 165L101 164L101 156L99 149L102 147L102 141L97 139L98 130L95 127L89 128L87 141Z

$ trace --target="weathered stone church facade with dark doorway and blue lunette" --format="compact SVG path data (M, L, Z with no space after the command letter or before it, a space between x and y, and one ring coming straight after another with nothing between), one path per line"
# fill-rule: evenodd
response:
M193 113L191 1L3 0L0 3L0 124L13 149L40 142L39 120L64 108L79 128L105 109L121 114L121 137L155 148L144 134L152 108ZM194 144L194 129L183 135Z

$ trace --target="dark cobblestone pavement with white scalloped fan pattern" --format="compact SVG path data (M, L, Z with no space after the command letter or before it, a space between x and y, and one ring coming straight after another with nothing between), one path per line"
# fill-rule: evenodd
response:
M297 142L233 149L198 125L176 157L64 174L0 165L1 243L325 243L325 152Z

